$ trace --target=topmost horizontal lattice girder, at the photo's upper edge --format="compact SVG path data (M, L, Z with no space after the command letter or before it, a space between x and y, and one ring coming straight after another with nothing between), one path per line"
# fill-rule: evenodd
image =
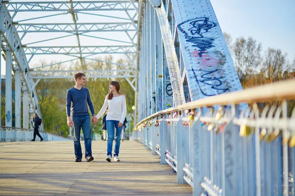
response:
M73 1L73 9L67 1L45 2L9 2L2 1L8 12L29 11L131 11L134 6L130 1Z

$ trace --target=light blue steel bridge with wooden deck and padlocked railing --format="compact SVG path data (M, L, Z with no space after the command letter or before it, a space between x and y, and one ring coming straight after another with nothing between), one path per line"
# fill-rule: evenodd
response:
M243 90L209 0L2 0L0 33L0 195L294 195L295 80ZM74 64L134 90L120 165L93 141L94 162L77 169L72 142L43 124L50 142L28 142L29 117L42 118L36 86L72 78Z

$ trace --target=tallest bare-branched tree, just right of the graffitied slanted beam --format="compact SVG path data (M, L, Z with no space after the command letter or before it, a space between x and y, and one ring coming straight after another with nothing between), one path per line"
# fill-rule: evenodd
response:
M252 37L248 40L243 37L237 38L233 45L233 57L240 80L244 82L261 64L261 44Z

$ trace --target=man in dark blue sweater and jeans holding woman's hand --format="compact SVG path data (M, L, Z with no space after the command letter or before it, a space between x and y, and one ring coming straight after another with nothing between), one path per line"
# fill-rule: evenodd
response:
M88 106L92 114L91 122L97 123L94 107L88 88L85 88L85 74L76 73L75 86L66 93L66 114L68 126L73 126L75 162L82 161L82 148L80 144L80 131L84 135L85 158L87 162L93 161L91 152L91 128ZM88 105L88 106L87 106Z

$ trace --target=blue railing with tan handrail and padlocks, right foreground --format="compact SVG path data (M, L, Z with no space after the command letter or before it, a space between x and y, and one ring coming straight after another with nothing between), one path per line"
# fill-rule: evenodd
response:
M133 138L159 154L193 195L291 196L294 100L295 80L204 98L143 119Z

